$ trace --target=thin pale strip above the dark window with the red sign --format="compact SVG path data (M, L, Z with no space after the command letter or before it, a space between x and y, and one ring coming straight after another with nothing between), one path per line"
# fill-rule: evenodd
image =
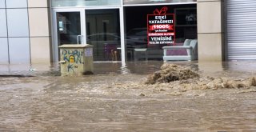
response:
M155 4L155 3L170 3L170 2L197 2L197 0L123 0L124 5L134 4Z

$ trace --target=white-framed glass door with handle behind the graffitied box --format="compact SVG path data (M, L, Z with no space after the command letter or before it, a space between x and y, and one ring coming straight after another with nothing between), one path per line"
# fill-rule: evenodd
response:
M54 10L54 62L58 62L58 46L63 44L83 44L84 10L56 9Z

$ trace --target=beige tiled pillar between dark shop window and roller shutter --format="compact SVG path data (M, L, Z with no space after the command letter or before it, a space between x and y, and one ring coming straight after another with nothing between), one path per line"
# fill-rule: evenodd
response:
M222 61L224 30L222 0L198 0L198 61Z

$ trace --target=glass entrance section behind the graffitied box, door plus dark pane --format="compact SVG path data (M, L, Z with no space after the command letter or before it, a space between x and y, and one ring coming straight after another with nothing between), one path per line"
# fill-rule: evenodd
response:
M54 62L58 62L58 46L90 44L94 61L121 61L119 9L54 10Z

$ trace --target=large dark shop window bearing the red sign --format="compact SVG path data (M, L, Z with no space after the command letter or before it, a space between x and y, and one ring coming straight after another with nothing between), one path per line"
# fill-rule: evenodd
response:
M155 17L150 17L154 16L156 9L166 9L166 15L161 19L177 19L177 23L174 21L174 24L170 24L174 26L174 30L170 30L172 28L166 29L165 25L158 24L154 21L154 19L156 19ZM124 16L126 20L125 37L127 60L145 60L146 58L149 60L162 60L162 46L173 45L173 43L175 45L182 45L186 39L197 38L196 11L196 4L126 6ZM148 22L152 24L149 25ZM167 26L169 26L169 24L167 24ZM152 27L155 28L152 29ZM173 32L175 35L172 34ZM183 55L186 54L186 52L178 51L177 54Z

